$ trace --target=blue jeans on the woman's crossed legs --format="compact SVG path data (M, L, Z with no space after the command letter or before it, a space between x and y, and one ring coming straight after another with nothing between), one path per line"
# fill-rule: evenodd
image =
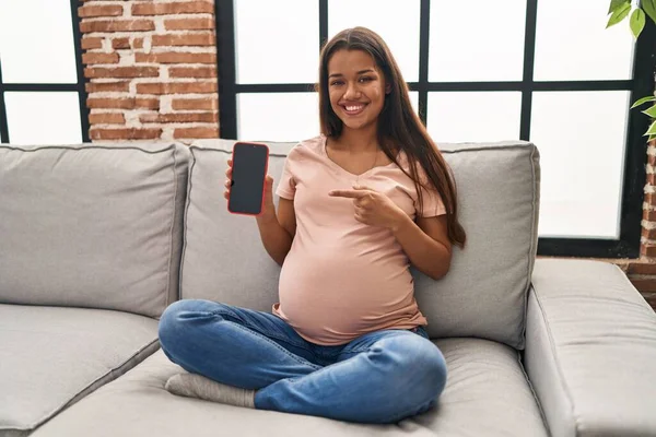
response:
M396 423L435 404L446 363L427 339L422 327L388 329L324 346L272 314L209 300L176 302L160 321L172 362L257 389L256 409L359 423Z

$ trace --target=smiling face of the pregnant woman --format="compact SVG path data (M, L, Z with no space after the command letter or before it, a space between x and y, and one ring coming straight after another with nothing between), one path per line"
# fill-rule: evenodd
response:
M328 61L330 106L345 129L376 126L390 85L374 58L363 50L340 49Z

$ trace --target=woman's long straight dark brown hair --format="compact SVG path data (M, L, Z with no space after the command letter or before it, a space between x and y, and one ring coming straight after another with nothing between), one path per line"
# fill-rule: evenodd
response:
M467 236L458 222L457 190L453 172L412 109L408 85L389 48L380 36L366 27L344 29L335 35L321 49L317 85L321 133L326 137L339 138L343 129L342 121L330 106L328 94L328 61L336 51L341 49L363 50L370 54L384 73L385 83L391 85L391 91L386 94L383 110L378 116L378 143L385 154L397 165L399 165L397 161L399 151L403 151L408 156L410 174L407 174L400 165L399 167L414 181L420 209L423 201L420 187L431 189L425 182L420 181L417 165L421 165L446 206L450 243L464 248Z

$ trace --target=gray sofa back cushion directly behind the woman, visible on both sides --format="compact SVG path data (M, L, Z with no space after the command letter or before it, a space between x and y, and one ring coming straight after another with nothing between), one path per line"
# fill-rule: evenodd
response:
M251 217L232 215L222 196L234 141L191 147L181 297L270 311L280 268ZM268 143L274 189L292 143ZM433 281L412 270L415 297L433 338L477 336L524 347L526 297L537 250L540 168L527 142L440 144L454 170L465 249ZM276 199L278 201L278 199Z

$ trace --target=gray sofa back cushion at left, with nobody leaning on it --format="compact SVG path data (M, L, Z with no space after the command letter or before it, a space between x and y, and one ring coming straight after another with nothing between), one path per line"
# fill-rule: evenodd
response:
M188 153L0 144L0 303L159 317L178 296Z

